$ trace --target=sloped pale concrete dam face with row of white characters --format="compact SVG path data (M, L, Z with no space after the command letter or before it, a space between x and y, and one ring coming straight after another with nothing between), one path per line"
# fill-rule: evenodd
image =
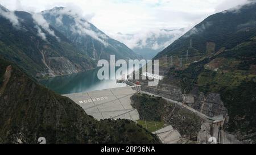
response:
M139 113L131 106L131 96L136 91L131 87L119 87L90 91L88 93L65 94L79 104L88 115L97 120L101 119L129 119L139 120Z

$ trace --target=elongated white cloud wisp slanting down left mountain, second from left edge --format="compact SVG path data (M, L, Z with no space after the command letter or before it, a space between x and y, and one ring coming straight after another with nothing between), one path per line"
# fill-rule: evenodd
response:
M41 26L45 31L47 31L49 33L49 35L52 35L52 36L56 37L57 40L59 40L59 37L57 37L55 35L55 32L53 30L51 30L51 28L49 27L49 23L46 21L46 19L44 19L43 15L34 13L34 14L32 14L32 18L34 19L35 24L37 24L38 26ZM39 30L39 27L38 27L38 32L39 32L39 36L42 36L43 32L41 29ZM46 35L44 35L44 36L46 36ZM43 39L44 39L44 37L43 37Z

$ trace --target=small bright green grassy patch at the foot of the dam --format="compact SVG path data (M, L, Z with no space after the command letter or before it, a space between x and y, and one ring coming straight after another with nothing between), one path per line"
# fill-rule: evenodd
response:
M143 128L147 129L150 132L158 131L164 127L164 122L154 122L154 121L147 121L147 120L138 120L137 123L142 125Z

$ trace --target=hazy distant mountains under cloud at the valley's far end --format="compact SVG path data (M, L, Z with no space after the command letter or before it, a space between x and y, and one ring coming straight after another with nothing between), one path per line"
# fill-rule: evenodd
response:
M185 32L185 28L179 30L160 29L139 31L133 34L117 33L113 37L125 43L144 59L150 60Z

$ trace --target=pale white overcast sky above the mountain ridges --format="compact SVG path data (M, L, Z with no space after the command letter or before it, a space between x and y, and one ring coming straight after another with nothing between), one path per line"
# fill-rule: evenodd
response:
M0 0L9 10L39 12L69 6L108 35L192 27L215 12L246 0Z

